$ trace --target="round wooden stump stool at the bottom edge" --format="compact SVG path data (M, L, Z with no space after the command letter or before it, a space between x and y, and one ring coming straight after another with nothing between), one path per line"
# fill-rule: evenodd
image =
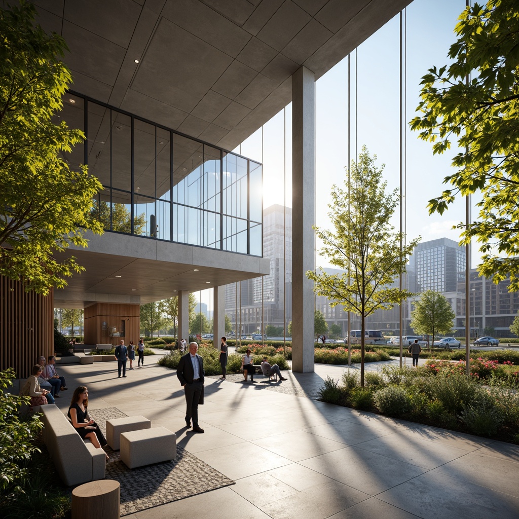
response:
M72 519L119 519L119 504L118 481L90 481L72 490Z

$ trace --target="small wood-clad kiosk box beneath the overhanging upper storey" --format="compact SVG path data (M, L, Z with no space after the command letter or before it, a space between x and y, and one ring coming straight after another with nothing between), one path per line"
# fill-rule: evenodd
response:
M133 340L133 344L139 342L141 330L140 305L126 305L118 303L95 303L84 311L85 319L85 344L112 344L116 346L120 339L125 339L125 344ZM120 322L125 321L125 335L111 337L110 330L116 327L120 331ZM106 326L103 326L103 322Z

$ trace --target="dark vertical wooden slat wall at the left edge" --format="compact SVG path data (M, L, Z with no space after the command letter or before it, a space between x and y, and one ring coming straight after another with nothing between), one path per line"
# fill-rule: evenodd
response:
M0 370L26 378L40 355L54 353L53 291L25 292L21 281L0 276Z

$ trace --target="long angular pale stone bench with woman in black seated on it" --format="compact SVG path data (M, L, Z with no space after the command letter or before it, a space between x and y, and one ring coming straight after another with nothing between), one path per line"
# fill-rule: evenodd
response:
M56 405L42 405L43 440L63 483L67 486L102 480L105 452L83 441L71 422Z

